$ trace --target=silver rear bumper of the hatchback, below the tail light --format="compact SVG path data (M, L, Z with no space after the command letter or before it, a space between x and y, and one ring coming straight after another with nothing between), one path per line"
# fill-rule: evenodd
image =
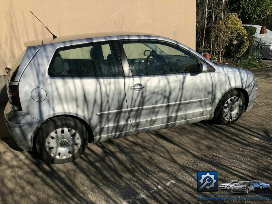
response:
M4 117L8 131L16 144L23 150L32 151L33 142L31 137L41 121L25 115L22 111L13 111L9 102L5 107Z

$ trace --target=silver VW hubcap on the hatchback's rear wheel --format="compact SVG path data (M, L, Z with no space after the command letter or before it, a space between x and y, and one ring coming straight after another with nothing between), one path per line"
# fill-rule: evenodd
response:
M79 150L80 145L80 135L71 128L54 130L45 141L47 153L57 159L72 157Z

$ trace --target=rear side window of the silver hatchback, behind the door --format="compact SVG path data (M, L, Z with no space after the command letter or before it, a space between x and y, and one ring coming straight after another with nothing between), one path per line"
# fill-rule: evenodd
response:
M124 76L114 44L92 43L58 49L50 62L52 77L116 77Z

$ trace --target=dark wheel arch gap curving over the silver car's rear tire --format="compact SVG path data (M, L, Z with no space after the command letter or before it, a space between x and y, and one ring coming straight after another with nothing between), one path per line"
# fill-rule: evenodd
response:
M40 127L49 119L51 118L56 118L56 117L61 117L61 116L64 116L64 117L70 117L70 118L74 118L78 121L80 121L86 128L87 132L88 132L88 137L89 137L89 142L93 142L94 141L94 135L93 135L93 131L92 131L92 128L91 126L88 124L88 122L86 122L86 119L83 119L79 116L76 116L76 115L70 115L70 114L60 114L60 115L54 115L52 117L49 117L45 120L43 120L36 128L35 130L33 131L32 133L32 136L31 136L31 146L33 146L33 138L34 136L36 135L37 131L40 129Z

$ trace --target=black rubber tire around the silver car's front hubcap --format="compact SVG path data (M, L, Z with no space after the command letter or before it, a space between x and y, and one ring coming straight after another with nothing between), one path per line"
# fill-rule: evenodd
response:
M223 113L222 113L223 106L225 105L225 103L227 102L228 99L230 99L231 97L235 97L235 96L239 97L241 99L241 101L243 102L242 110L241 110L241 113L238 115L238 117L235 118L235 120L227 121L223 117ZM220 124L220 125L228 125L228 124L235 123L243 114L244 108L245 108L244 95L240 91L238 91L236 89L232 89L232 90L228 91L227 93L225 93L225 95L218 102L218 104L215 108L213 121L214 121L214 123Z

